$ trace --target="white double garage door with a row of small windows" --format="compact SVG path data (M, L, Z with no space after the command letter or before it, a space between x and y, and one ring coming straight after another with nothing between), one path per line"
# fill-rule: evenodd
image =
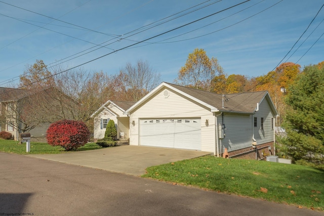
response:
M200 119L141 119L140 145L201 150Z

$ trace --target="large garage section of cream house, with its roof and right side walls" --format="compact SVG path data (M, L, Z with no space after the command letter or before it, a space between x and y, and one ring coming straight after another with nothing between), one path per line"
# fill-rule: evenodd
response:
M267 91L219 95L162 82L126 110L130 145L191 149L229 157L274 154L277 111Z

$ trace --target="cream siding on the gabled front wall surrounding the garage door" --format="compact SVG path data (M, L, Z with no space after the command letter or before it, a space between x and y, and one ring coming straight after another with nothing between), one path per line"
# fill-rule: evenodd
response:
M215 121L213 113L206 107L184 98L176 92L168 90L170 95L165 98L163 89L153 95L150 100L139 106L131 113L130 122L135 121L135 126L130 125L130 145L139 143L139 119L142 118L200 118L201 119L201 150L214 151ZM205 125L208 119L209 126Z

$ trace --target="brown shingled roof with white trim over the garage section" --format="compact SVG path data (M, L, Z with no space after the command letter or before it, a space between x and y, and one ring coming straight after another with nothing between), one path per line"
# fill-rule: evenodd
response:
M211 112L240 112L240 113L254 113L257 109L258 103L264 98L269 100L272 111L277 115L275 107L271 101L267 91L262 92L248 92L239 94L225 94L220 95L203 90L197 90L189 87L182 87L172 83L162 82L153 91L147 94L144 98L138 101L134 106L128 109L125 113L130 114L132 110L145 101L149 100L156 92L169 89L186 98L189 98L203 106L210 109Z

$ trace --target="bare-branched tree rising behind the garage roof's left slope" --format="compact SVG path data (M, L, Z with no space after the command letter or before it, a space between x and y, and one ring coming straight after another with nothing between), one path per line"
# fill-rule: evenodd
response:
M126 101L139 101L160 83L160 74L153 71L147 61L138 60L135 65L127 63L119 75L119 93Z

